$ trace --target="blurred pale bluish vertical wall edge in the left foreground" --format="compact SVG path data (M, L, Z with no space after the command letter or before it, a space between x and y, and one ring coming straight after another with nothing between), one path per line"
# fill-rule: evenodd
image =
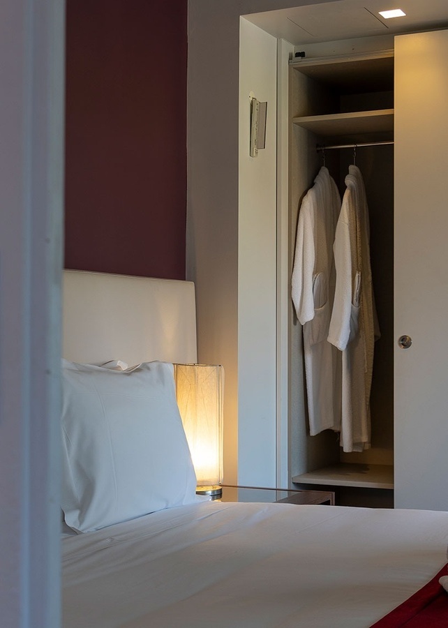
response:
M64 2L0 8L0 624L59 626Z

